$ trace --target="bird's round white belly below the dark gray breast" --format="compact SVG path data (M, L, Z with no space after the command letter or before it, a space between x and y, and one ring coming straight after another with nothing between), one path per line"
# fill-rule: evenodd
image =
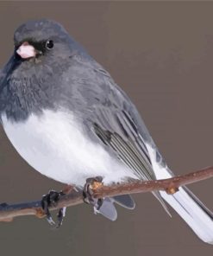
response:
M103 176L105 183L135 177L101 145L89 141L71 113L45 111L19 123L3 115L2 120L19 154L35 170L56 181L83 186L87 177Z

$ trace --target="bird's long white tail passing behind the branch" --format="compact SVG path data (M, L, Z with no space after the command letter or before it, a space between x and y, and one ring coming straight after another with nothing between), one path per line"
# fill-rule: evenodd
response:
M160 164L156 150L147 145L153 171L158 180L171 178L172 171ZM206 243L213 244L213 213L186 187L179 188L173 195L160 191L162 198L185 220L197 236Z

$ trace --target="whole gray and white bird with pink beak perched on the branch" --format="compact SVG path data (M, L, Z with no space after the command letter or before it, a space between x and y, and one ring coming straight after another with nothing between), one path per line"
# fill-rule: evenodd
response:
M91 178L111 184L174 176L128 95L53 20L29 20L16 29L14 52L0 75L0 119L34 170L77 189ZM153 195L213 243L213 214L191 190ZM115 221L115 202L135 208L130 195L106 197L95 208Z

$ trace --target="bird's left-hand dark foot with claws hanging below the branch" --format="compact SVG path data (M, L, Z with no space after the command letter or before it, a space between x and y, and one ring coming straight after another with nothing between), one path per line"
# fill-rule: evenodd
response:
M50 190L49 193L47 195L43 195L41 199L41 207L43 208L44 213L47 215L47 221L51 226L55 228L59 228L61 226L63 218L66 214L66 208L60 208L57 214L57 223L53 221L49 208L57 206L57 203L59 202L61 195L65 195L65 193Z

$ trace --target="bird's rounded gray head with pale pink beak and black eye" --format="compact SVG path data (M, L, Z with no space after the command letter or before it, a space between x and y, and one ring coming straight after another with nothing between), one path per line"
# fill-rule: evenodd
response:
M66 60L73 47L71 37L58 22L47 19L23 23L14 34L15 61L47 64ZM24 66L29 64L24 64Z

